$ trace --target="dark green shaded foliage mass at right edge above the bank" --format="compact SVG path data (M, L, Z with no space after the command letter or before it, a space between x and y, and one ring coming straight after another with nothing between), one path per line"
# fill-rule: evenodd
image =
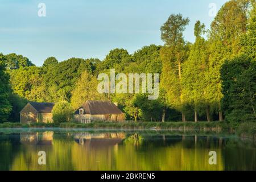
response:
M256 122L256 60L246 56L225 61L221 68L222 106L228 122Z

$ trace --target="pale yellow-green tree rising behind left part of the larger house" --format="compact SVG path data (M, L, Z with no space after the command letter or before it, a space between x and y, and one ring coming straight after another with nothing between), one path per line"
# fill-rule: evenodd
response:
M104 100L104 95L97 92L97 78L85 71L77 80L75 89L71 92L73 109L79 108L88 100Z

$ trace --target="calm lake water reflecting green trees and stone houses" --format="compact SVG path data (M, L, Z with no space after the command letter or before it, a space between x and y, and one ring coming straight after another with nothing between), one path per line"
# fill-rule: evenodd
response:
M0 129L0 170L256 170L256 142L164 130Z

